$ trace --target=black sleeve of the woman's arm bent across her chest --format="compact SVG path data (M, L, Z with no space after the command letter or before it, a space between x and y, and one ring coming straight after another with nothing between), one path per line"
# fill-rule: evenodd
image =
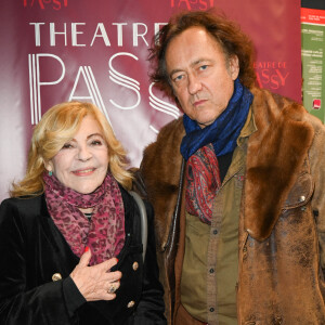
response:
M12 199L1 204L0 324L75 324L73 310L83 303L83 297L70 277L34 286L37 271L30 265L32 259L26 258L32 248L20 214Z

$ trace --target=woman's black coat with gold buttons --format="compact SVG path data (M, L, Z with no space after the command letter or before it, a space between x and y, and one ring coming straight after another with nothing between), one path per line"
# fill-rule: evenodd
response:
M87 302L76 287L69 274L79 258L51 219L43 195L2 202L1 325L166 324L156 263L153 209L146 204L148 243L143 263L139 209L128 192L121 188L121 193L126 243L117 257L116 269L121 271L122 277L112 301ZM134 262L138 269L133 268ZM60 273L62 280L53 281L55 273Z

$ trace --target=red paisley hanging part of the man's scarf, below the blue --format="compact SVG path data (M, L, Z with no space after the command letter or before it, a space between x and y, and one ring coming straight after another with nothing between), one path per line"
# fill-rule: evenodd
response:
M221 181L212 144L199 148L187 160L186 211L211 224L212 205Z

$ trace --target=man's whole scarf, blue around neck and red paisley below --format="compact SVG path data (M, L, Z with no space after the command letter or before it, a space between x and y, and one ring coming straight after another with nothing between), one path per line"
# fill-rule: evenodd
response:
M188 116L183 117L186 135L181 154L187 160L186 211L205 223L211 223L213 199L221 186L217 157L235 150L252 98L237 78L227 107L213 123L202 129Z

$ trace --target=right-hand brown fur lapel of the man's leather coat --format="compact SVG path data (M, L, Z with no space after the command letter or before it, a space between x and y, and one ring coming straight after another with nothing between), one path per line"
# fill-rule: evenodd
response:
M253 238L268 238L297 173L307 158L314 131L306 109L280 95L253 90L258 131L248 142L244 226Z

